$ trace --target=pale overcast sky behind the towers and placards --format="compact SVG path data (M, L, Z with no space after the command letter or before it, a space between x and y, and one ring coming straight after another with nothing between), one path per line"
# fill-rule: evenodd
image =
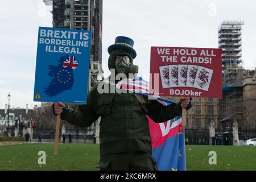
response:
M11 7L11 9L10 9ZM52 27L52 14L42 0L3 1L0 6L0 108L31 108L38 27ZM151 46L218 48L223 20L243 20L242 58L245 68L256 64L256 2L253 0L105 0L103 2L102 68L108 71L108 47L116 36L132 38L142 76L150 69Z

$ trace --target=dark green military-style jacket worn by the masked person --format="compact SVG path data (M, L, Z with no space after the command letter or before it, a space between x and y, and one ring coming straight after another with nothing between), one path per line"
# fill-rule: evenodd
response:
M115 85L103 84L106 90ZM98 93L94 86L88 93L86 105L78 110L67 109L61 119L81 127L89 127L101 117L100 154L111 155L121 152L148 152L151 154L151 137L148 115L155 122L165 122L181 114L180 102L164 106L156 100L148 100L134 93Z

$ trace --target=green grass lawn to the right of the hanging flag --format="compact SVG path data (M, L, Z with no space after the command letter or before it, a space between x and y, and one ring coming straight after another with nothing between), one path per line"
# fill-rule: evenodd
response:
M217 164L210 165L209 151L216 151ZM187 170L256 170L255 146L186 146Z

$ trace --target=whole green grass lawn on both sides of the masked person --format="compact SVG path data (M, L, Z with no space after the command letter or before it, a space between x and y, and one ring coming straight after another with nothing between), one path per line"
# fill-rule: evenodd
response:
M0 170L97 170L100 159L98 144L19 144L0 146ZM46 152L46 165L38 164L38 152ZM209 151L216 151L217 164L208 163ZM187 169L193 170L256 170L256 147L186 146Z

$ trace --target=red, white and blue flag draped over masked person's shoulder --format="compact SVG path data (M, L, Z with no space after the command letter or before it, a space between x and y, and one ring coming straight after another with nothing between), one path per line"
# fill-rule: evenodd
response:
M117 88L132 93L148 96L149 84L141 77L119 81ZM176 104L156 96L155 99L163 105ZM156 123L148 118L152 139L152 156L160 171L185 171L185 133L181 123L181 115L163 123Z

